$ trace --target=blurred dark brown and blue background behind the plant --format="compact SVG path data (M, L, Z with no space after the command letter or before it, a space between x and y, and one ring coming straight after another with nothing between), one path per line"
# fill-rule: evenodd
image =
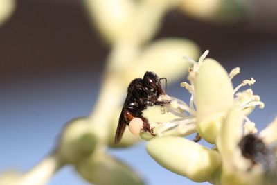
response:
M110 46L80 0L10 2L6 8L0 3L5 8L0 8L0 13L12 7L0 25L0 171L24 171L48 155L66 121L91 112ZM220 0L199 4L204 2ZM209 49L208 56L227 71L241 68L235 85L255 78L252 89L265 109L256 109L250 118L260 130L277 116L277 3L239 2L224 5L221 11L228 14L208 16L201 15L204 9L197 12L205 6L190 5L186 0L185 8L166 13L153 40L190 39L202 52ZM179 88L185 78L184 73L171 83L168 94L188 100L188 94ZM127 161L148 184L197 184L155 163L145 151L145 143L109 151ZM49 184L88 183L67 166Z

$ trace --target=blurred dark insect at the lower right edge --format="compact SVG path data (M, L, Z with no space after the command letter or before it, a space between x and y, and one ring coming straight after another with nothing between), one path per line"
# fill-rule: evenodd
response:
M252 161L252 166L260 164L265 172L265 185L277 184L277 159L274 150L276 146L266 145L262 139L254 134L242 137L238 144L242 155Z

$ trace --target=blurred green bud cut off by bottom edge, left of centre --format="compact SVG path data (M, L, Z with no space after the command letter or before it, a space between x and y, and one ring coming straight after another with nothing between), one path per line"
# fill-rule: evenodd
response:
M100 185L143 185L141 177L118 159L97 153L80 162L75 169L88 182Z

